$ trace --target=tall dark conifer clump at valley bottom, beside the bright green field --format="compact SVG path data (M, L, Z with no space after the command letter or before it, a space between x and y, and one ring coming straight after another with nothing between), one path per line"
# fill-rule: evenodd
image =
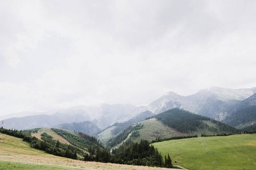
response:
M170 155L163 160L158 150L143 139L140 143L129 142L129 145L124 142L119 148L113 149L112 154L105 149L100 150L99 147L97 150L89 148L88 152L84 157L85 161L172 168Z

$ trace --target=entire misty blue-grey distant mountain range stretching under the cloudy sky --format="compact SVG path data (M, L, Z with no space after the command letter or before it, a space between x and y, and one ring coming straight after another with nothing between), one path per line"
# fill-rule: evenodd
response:
M91 121L93 124L97 125L98 128L105 129L115 122L129 121L131 118L145 111L159 114L172 108L180 108L201 116L213 118L214 120L224 121L226 124L232 126L239 125L245 128L242 124L247 122L254 123L255 120L245 119L238 124L236 122L226 121L226 118L232 120L230 119L232 115L240 117L241 108L246 109L250 107L251 109L251 107L256 104L255 93L256 88L235 90L221 87L211 87L206 90L200 90L190 96L181 96L175 94L175 92L169 92L167 95L159 97L159 99L146 106L135 107L131 104L101 104L100 106L94 107L79 106L61 109L53 114L51 114L52 112L47 112L48 114L36 113L37 115L32 115L31 113L31 116L2 119L2 125L7 129L23 130L52 128L58 127L60 124ZM246 117L246 115L244 116ZM234 118L233 120L236 121L238 118ZM67 126L70 127L70 125L65 125L65 127Z

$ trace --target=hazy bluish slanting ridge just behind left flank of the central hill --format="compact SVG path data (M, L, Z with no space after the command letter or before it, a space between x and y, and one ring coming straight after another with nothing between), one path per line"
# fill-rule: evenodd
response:
M106 143L110 138L114 137L114 135L117 135L123 129L127 128L131 124L136 124L144 120L145 118L151 117L153 115L154 114L150 111L139 113L137 116L131 118L129 121L122 122L122 123L115 123L112 126L109 126L108 128L106 128L105 130L102 130L100 133L97 134L97 138L102 143Z

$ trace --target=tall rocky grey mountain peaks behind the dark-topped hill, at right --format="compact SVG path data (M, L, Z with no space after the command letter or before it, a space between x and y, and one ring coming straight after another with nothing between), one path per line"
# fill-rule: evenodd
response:
M221 87L211 87L200 90L194 95L181 96L175 92L169 92L152 103L136 108L129 116L121 117L118 122L123 122L134 117L138 113L151 111L154 114L162 113L172 108L180 108L222 121L228 116L227 109L247 99L256 93L256 88L230 89Z

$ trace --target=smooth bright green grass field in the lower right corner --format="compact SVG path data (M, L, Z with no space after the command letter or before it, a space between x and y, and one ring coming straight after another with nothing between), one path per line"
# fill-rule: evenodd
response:
M256 169L256 134L153 143L173 165L187 169ZM177 163L175 163L177 160Z

